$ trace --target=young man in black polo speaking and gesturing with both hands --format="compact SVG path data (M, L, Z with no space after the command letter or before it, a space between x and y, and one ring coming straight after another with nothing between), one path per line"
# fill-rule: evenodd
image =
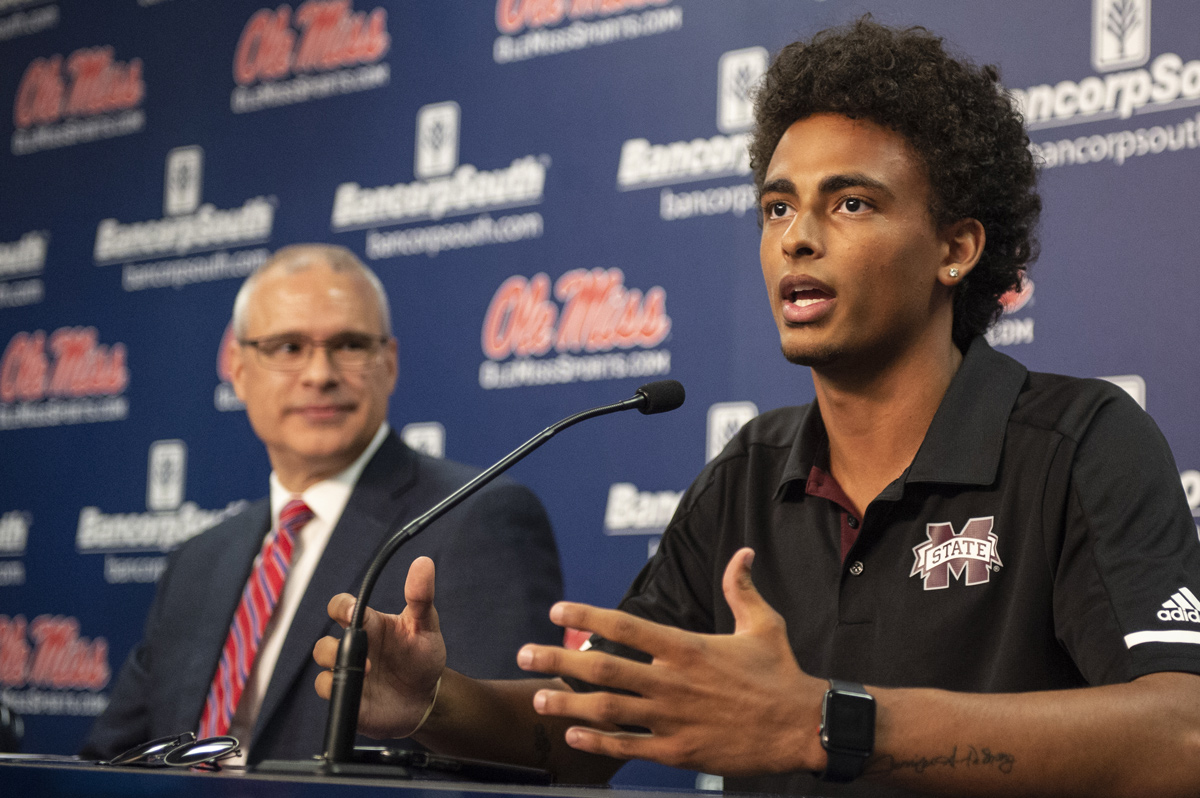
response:
M446 670L415 562L404 613L367 616L361 728L560 781L637 757L739 792L1200 793L1200 634L1160 614L1200 593L1170 451L1120 390L982 337L1034 252L1027 143L995 71L923 30L785 48L751 158L816 401L743 428L619 610L556 605L588 650L518 664L560 678Z

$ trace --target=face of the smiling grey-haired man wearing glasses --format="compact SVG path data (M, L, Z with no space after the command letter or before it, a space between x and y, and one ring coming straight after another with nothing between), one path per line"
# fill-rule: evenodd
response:
M244 340L300 335L326 341L344 334L385 335L374 293L360 275L318 262L290 274L275 268L259 277L246 307ZM343 470L388 414L396 384L395 340L360 371L340 370L323 347L299 371L274 371L252 347L230 346L234 390L288 490L302 491Z

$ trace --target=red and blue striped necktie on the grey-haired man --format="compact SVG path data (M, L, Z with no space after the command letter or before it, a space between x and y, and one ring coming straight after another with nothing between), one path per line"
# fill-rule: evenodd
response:
M229 731L233 713L238 708L241 691L250 677L250 668L258 654L258 643L263 640L275 604L283 592L283 582L292 566L292 550L295 538L313 512L301 499L288 502L280 512L280 527L263 544L263 551L254 565L254 572L246 582L241 593L241 602L234 613L229 636L217 673L209 688L209 698L204 702L204 714L200 716L200 737L216 737Z

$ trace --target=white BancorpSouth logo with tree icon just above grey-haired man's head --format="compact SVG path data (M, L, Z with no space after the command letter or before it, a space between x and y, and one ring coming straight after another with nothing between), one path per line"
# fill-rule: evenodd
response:
M526 155L505 167L479 169L458 162L458 104L439 102L416 113L416 180L366 188L343 182L334 194L331 226L335 232L437 221L446 216L482 214L536 205L546 186L548 155ZM485 216L486 217L486 216ZM480 218L485 218L480 217ZM367 257L382 257L384 246L372 233Z

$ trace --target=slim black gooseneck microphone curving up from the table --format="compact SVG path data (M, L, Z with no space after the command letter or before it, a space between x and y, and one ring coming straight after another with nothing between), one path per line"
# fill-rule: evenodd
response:
M344 770L338 766L355 762L354 737L359 726L359 704L362 701L362 680L366 676L367 661L367 634L362 629L362 618L366 614L367 602L371 600L371 592L379 580L379 574L391 556L396 553L396 550L566 427L594 419L598 415L632 410L634 408L646 415L667 413L683 404L683 385L673 379L664 379L642 385L628 400L594 407L552 424L505 455L479 476L430 508L424 515L413 518L379 546L367 568L366 576L362 577L359 598L354 605L354 616L350 618L350 625L342 634L342 642L337 648L334 686L329 700L329 720L325 726L323 758L326 768L331 772Z

